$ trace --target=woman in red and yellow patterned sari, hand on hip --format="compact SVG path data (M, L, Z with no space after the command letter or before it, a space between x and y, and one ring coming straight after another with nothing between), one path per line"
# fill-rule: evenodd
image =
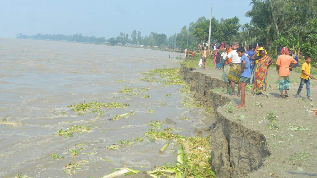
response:
M260 50L257 53L260 53L261 58L256 66L256 80L254 81L253 93L255 95L264 95L266 91L266 81L268 78L268 67L274 62L274 59L265 55L264 50Z

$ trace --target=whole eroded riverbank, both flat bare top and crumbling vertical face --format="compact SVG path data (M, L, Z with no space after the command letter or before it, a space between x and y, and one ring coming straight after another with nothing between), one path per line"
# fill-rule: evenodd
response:
M235 108L240 97L230 96L222 70L181 67L201 104L213 107L215 128L210 131L212 168L218 177L317 177L317 82L311 81L296 98L300 73L290 74L288 98L281 99L275 67L268 70L267 94L246 91L246 107ZM211 125L212 123L210 123Z

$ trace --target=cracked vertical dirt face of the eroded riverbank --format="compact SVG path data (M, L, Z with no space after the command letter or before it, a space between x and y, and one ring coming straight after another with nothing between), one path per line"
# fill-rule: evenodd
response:
M214 108L216 126L211 130L210 144L213 148L211 166L216 175L219 178L238 178L259 169L263 158L270 155L267 144L261 143L266 140L264 135L225 118L217 111L218 106L226 105L230 99L212 92L212 89L226 87L225 82L184 66L181 66L181 75L191 90L196 91L195 97L201 100L201 104Z

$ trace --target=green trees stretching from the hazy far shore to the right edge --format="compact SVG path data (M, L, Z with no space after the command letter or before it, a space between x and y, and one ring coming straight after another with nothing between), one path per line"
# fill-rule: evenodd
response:
M312 65L317 65L317 6L316 0L252 0L252 8L245 16L250 23L241 25L238 17L211 19L211 42L257 44L262 42L269 55L276 56L281 47L296 50L299 54L310 55ZM17 38L43 40L63 40L89 43L127 44L146 47L178 48L179 50L196 49L197 43L208 42L209 20L200 17L196 22L184 26L179 33L167 37L165 34L151 32L141 36L140 31L129 34L123 32L117 37L105 39L94 36L74 35L22 35Z

